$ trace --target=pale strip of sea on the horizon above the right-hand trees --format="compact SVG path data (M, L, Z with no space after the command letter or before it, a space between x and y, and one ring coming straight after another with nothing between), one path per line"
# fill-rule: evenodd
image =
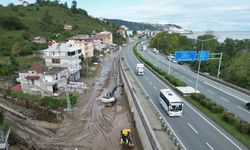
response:
M250 39L250 31L193 31L191 34L187 34L187 37L196 39L199 35L211 33L218 39L219 42L224 42L226 38L234 40Z

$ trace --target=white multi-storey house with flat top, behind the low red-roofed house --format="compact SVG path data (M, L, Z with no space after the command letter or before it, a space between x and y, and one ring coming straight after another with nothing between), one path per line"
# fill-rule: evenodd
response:
M47 67L62 67L69 70L69 81L80 79L82 69L79 58L82 50L69 43L56 43L43 50L45 64Z

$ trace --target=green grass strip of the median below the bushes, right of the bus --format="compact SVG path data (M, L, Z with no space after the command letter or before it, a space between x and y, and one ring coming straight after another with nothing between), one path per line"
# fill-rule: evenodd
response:
M250 136L246 135L246 134L242 134L235 127L235 125L230 125L230 124L226 123L222 119L222 114L212 113L209 109L203 107L199 102L195 101L191 97L185 97L185 99L188 100L193 106L198 108L200 111L202 111L204 114L206 114L208 117L210 117L213 121L218 123L222 128L224 128L229 133L231 133L235 138L237 138L239 141L241 141L243 144L245 144L248 148L250 148Z

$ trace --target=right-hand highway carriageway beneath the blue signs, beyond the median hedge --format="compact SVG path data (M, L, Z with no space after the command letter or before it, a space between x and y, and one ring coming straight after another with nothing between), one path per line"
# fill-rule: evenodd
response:
M158 66L166 72L168 72L170 63L170 74L195 88L197 74L191 71L187 66L171 63L163 56L154 54L150 49L142 52L140 44L138 44L138 51L146 59L150 60L151 63L156 66L158 64ZM198 83L198 91L231 111L238 118L250 122L250 111L245 108L246 102L250 102L250 96L203 76L199 76Z

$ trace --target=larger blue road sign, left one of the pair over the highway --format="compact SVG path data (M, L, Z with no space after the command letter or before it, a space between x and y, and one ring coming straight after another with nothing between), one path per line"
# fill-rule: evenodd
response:
M195 61L196 51L176 51L175 60L176 61Z

